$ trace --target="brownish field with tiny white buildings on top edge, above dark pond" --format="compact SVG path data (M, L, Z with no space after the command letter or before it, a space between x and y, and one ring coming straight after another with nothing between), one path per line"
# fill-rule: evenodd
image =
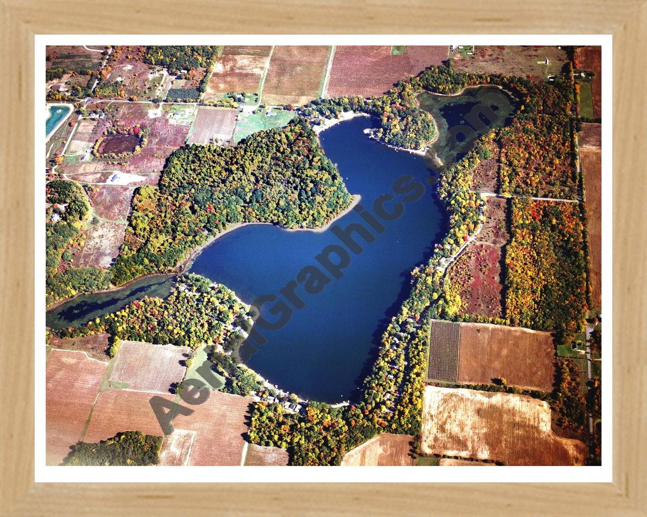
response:
M568 61L564 50L540 45L518 47L512 45L479 45L474 47L473 56L452 55L456 70L474 74L501 74L521 76L533 81L543 81L548 74L556 74ZM549 64L545 64L545 59Z

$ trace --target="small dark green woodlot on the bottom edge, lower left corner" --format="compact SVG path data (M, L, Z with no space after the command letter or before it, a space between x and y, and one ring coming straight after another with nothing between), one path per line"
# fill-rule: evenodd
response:
M93 466L146 466L157 465L162 447L161 436L151 436L139 431L119 432L113 438L99 443L80 441L72 446L63 465Z

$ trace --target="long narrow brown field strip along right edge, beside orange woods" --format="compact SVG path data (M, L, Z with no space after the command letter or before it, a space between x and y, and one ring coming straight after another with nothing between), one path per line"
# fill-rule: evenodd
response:
M602 308L602 149L580 147L591 257L591 304Z

